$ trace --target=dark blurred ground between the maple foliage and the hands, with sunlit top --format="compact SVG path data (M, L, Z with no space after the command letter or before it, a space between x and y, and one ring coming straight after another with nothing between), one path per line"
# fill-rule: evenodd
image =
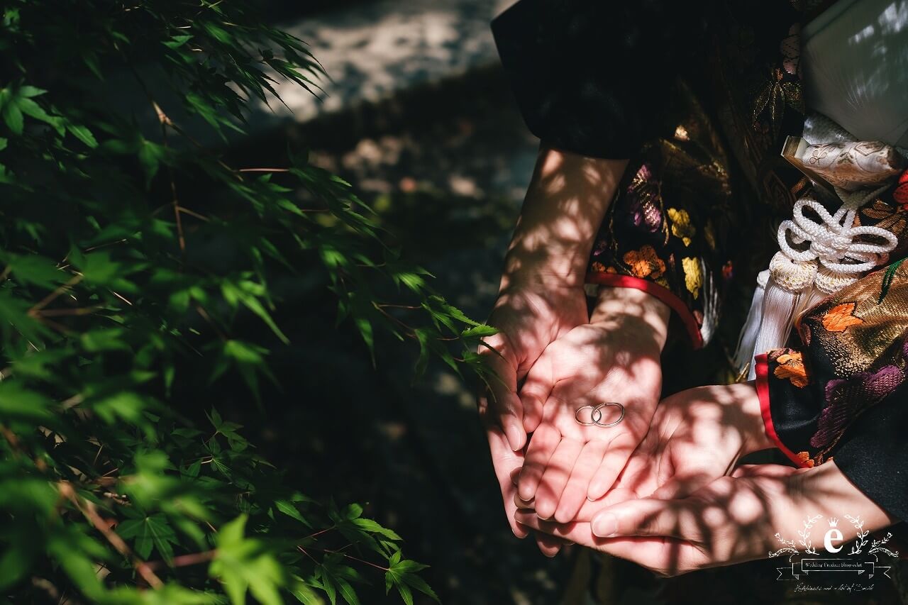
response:
M298 4L275 3L273 21L311 45L331 81L320 82L320 100L279 86L287 106L253 115L231 164L272 166L288 144L309 149L436 276L439 293L485 319L537 149L489 30L507 0ZM376 342L373 367L355 329L336 326L334 295L314 275L283 291L293 313L278 321L292 344L271 356L282 392L254 414L228 388L222 412L301 491L368 503L366 514L404 538L405 556L431 566L424 577L442 602L558 602L572 561L548 560L508 529L472 387L434 362L413 382L412 342Z

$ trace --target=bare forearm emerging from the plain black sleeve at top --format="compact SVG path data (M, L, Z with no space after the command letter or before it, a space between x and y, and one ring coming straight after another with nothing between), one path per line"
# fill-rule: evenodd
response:
M508 247L501 290L515 283L581 287L593 240L627 160L543 146Z

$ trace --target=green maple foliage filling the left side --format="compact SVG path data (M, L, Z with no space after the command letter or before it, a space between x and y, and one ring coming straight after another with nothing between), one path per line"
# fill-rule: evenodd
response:
M382 574L406 602L433 595L394 531L288 487L239 424L180 396L237 374L257 400L289 340L273 283L304 273L331 284L370 350L379 332L418 343L418 370L433 352L475 369L490 331L305 154L238 167L200 143L242 133L255 103L280 102L281 78L317 92L307 46L257 14L5 3L0 594L13 602L357 603ZM257 337L238 335L250 320Z

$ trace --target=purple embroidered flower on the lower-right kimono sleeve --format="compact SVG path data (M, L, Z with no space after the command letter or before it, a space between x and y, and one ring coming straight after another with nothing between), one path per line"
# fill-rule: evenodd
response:
M816 423L816 433L810 438L811 446L822 448L828 445L860 412L883 401L904 379L901 369L886 365L876 372L860 372L848 380L827 382L828 405Z

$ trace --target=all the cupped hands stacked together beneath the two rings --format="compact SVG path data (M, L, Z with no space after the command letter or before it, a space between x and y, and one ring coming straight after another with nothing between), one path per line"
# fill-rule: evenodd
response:
M556 304L551 290L505 298L493 313L502 330L494 344L503 352L493 363L514 380L493 384L497 399L480 402L480 412L518 537L536 530L549 556L577 542L675 575L765 557L779 548L776 532L795 537L817 512L858 515L872 530L893 522L834 462L735 469L742 455L773 447L753 384L700 387L656 405L665 318L641 297L649 298L606 291L589 323L574 327L559 311L577 307ZM515 301L527 303L522 312ZM570 317L586 320L583 311ZM553 318L558 328L537 332L526 312ZM538 354L525 346L547 337ZM625 422L577 424L580 405L603 401L624 402Z

